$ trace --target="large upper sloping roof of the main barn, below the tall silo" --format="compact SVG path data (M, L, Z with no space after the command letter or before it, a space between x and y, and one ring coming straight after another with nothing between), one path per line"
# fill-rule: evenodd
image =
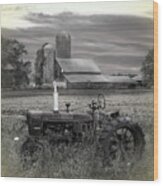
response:
M57 58L63 73L70 74L100 74L99 67L91 59L81 58Z

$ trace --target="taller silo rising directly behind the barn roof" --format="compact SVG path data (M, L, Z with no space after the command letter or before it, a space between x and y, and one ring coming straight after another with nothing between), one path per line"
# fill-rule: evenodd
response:
M67 32L56 35L56 57L71 58L71 36Z

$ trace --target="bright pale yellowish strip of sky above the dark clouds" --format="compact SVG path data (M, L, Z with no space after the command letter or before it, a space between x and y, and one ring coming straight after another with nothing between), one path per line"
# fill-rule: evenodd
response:
M77 14L112 14L153 16L153 4L151 0L143 1L117 1L97 3L55 3L55 4L21 4L2 5L1 25L5 28L31 27L33 24L24 19L29 13L59 14L61 12L73 12ZM79 8L80 7L80 8Z

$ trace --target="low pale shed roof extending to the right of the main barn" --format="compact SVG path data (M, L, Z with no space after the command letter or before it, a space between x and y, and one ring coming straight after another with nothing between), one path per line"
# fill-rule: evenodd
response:
M109 83L136 83L135 80L128 76L106 76Z

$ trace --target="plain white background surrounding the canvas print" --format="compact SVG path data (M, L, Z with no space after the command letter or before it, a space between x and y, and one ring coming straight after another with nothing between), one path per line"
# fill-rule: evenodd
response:
M16 3L47 3L47 2L84 2L87 0L1 0L0 4L16 4ZM88 0L92 2L94 0ZM102 1L102 0L98 0ZM116 1L116 0L112 0ZM120 1L120 0L119 0ZM122 0L123 1L123 0ZM155 182L151 181L113 181L113 180L66 180L66 179L30 179L30 178L0 178L0 185L5 186L31 186L31 185L39 185L45 186L54 186L54 185L67 185L67 186L77 186L77 185L120 185L121 186L130 186L132 185L158 185L163 186L163 47L161 46L163 43L162 34L163 33L163 0L156 0L159 3L159 179Z

